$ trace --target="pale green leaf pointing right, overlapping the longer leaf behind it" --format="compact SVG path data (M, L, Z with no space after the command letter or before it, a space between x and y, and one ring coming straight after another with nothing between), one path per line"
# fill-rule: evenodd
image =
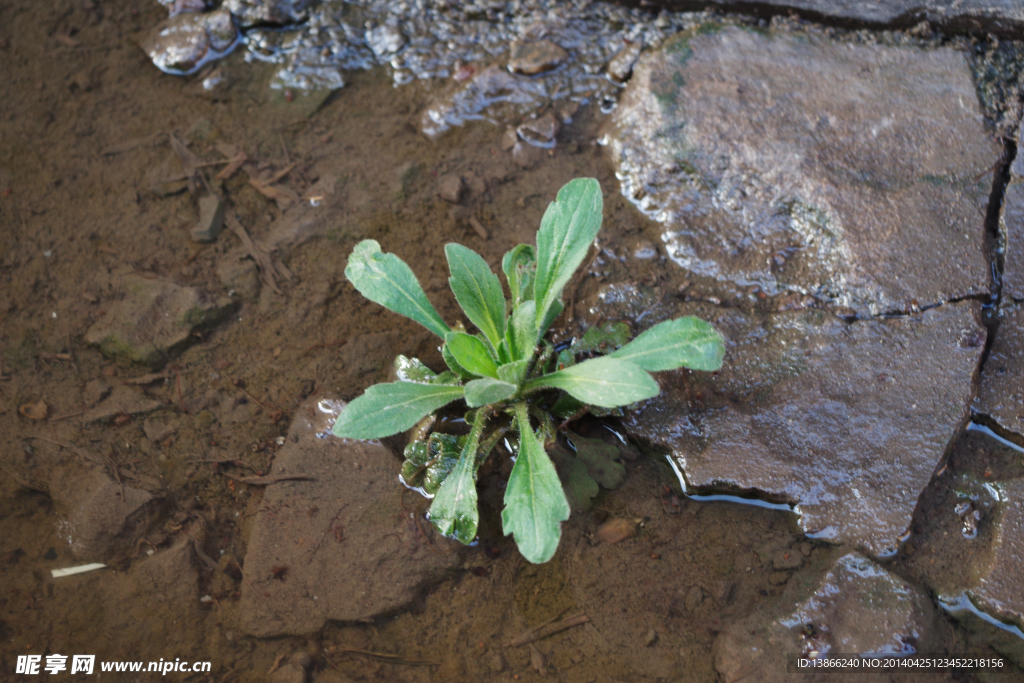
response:
M555 387L585 403L628 405L656 396L660 389L646 372L626 360L601 356L526 382L524 388Z

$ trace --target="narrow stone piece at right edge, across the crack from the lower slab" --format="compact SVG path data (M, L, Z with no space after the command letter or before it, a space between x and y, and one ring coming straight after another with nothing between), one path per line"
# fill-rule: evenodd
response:
M1024 308L1002 309L974 410L1024 435Z

